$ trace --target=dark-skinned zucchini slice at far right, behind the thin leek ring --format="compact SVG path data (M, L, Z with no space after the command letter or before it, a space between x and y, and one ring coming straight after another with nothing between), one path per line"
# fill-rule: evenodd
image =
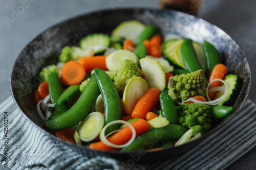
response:
M237 75L229 74L225 76L224 82L228 84L228 94L226 96L226 99L219 104L220 106L231 106L232 103L237 99L242 86L243 86L243 80L238 77ZM219 98L222 96L224 92L219 91L216 93L216 98Z

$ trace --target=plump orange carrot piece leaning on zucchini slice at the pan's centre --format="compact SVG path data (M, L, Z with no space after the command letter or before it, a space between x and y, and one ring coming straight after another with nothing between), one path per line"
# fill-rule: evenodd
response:
M132 118L146 118L146 113L150 112L159 101L160 91L157 88L148 89L139 99L132 112Z

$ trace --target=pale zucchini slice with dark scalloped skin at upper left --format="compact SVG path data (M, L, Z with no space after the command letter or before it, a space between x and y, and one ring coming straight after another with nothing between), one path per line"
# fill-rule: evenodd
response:
M80 47L84 50L88 50L96 45L103 46L103 48L96 50L95 54L104 52L104 47L110 46L110 36L106 34L95 33L87 35L80 41Z

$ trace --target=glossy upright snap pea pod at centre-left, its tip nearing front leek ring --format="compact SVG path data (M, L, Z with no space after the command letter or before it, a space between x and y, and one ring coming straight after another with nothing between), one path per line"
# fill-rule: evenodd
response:
M106 74L105 71L95 68L94 74L96 75L100 93L104 102L105 110L105 125L113 122L114 120L120 120L122 115L122 106L119 98L117 89L111 80L111 78ZM106 134L119 129L118 124L111 125L105 131Z

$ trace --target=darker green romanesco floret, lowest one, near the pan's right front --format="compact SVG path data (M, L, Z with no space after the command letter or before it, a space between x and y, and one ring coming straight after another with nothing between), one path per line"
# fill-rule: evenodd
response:
M183 110L178 111L178 123L187 129L193 129L193 136L210 130L210 106L197 103L185 104Z

